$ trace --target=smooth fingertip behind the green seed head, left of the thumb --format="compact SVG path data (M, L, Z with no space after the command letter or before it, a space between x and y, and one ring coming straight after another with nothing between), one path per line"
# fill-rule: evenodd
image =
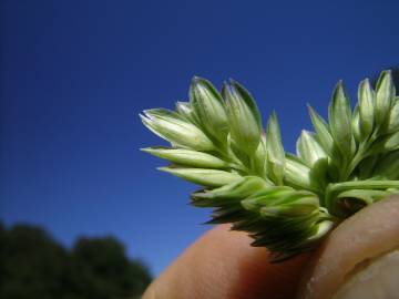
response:
M265 248L221 225L188 247L145 291L143 299L294 298L310 256L269 264Z

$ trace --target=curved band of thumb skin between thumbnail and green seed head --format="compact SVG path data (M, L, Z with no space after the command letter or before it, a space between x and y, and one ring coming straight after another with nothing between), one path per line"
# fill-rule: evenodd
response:
M304 272L300 298L331 298L359 262L397 248L399 195L361 209L332 230Z

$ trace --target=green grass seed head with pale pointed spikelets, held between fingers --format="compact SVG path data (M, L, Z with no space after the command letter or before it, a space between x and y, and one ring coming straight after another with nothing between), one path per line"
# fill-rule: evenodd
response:
M309 106L315 132L301 132L294 155L284 151L275 113L263 132L244 86L231 80L218 93L194 78L188 103L142 116L172 145L144 151L173 163L161 171L204 187L192 194L192 203L214 208L208 223L233 223L233 229L249 233L254 246L282 260L314 248L346 217L398 193L399 97L392 72L383 71L375 85L361 81L351 109L339 81L328 122Z

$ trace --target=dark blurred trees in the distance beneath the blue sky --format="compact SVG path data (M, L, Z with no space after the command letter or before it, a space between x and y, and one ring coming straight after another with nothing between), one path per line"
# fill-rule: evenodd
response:
M0 224L2 299L133 299L150 282L147 268L113 237L65 249L41 228Z

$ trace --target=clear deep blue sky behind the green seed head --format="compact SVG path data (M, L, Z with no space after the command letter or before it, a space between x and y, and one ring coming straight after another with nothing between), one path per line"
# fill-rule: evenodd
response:
M207 226L196 187L139 151L139 113L190 80L242 82L289 151L335 83L399 64L399 1L29 1L0 4L0 218L115 235L157 275Z

